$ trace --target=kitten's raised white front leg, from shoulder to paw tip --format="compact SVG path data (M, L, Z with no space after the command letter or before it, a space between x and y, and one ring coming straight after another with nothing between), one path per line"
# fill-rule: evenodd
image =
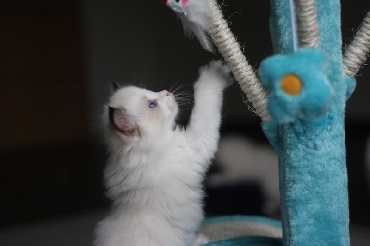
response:
M193 148L211 158L217 149L221 123L222 92L232 84L230 70L221 61L200 68L194 84L194 108L187 134Z

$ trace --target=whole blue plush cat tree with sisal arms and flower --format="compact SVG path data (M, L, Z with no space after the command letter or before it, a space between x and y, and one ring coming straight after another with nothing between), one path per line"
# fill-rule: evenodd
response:
M201 2L206 11L192 9ZM262 86L215 0L165 1L199 40L212 37L279 156L282 242L238 235L206 245L349 245L344 109L370 50L370 12L343 55L339 0L270 2L276 55L261 63ZM203 14L207 25L197 24Z

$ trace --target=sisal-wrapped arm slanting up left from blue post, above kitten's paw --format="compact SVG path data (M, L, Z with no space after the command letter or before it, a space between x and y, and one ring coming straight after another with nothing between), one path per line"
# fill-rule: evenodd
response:
M271 117L266 109L268 96L266 89L241 52L240 45L224 20L216 0L209 0L209 3L212 11L212 15L209 17L210 35L215 45L230 67L242 91L246 94L248 101L252 103L256 114L261 117L263 122L270 121Z

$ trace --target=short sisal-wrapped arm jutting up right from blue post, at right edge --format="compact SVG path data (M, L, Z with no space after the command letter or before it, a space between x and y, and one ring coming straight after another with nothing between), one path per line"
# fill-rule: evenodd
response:
M352 42L346 47L343 55L343 71L349 77L354 77L370 53L370 11L356 32Z

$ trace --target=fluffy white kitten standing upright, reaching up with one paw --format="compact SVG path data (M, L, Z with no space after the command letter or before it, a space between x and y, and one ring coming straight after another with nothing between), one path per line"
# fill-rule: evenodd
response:
M110 158L105 184L110 215L98 224L99 246L188 246L203 219L202 181L217 149L222 91L231 84L220 61L200 69L186 130L168 91L118 89L104 114Z

